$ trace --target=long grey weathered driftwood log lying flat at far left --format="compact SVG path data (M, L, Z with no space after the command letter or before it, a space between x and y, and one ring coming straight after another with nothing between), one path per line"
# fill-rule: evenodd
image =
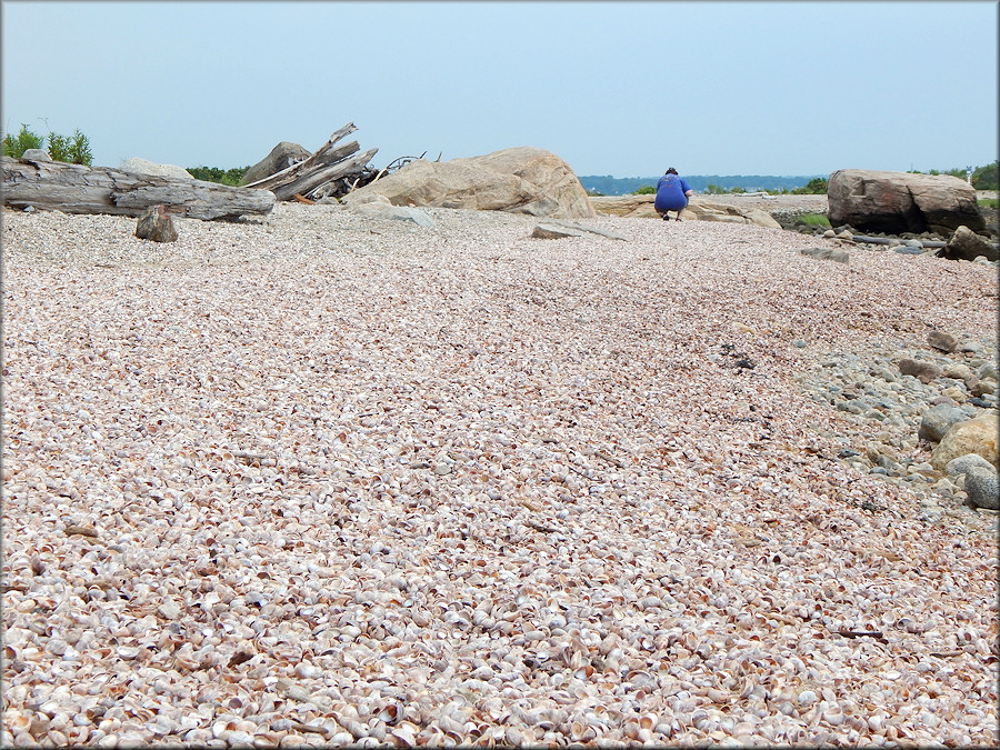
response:
M268 190L61 161L3 157L2 171L2 200L12 208L138 217L150 206L163 204L170 213L192 219L237 219L268 213L276 201Z

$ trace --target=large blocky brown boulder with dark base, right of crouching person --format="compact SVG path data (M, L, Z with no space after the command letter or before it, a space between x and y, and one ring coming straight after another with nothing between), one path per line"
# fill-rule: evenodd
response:
M827 181L830 223L868 232L938 232L986 228L972 186L950 174L841 169Z

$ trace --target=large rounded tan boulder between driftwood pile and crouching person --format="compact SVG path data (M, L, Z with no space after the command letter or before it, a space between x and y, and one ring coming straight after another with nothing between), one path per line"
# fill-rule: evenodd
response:
M373 193L384 196L393 206L510 211L558 219L597 216L569 166L549 151L530 147L443 162L417 159L358 188L343 202L363 201Z

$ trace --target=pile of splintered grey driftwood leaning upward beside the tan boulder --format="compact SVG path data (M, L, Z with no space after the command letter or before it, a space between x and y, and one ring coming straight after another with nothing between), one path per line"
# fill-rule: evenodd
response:
M334 182L346 177L360 177L367 171L368 162L379 151L369 149L358 153L361 148L358 141L337 146L338 141L354 130L357 130L354 123L348 122L334 131L311 157L244 187L270 190L278 200L292 200L297 193L303 198L332 194L336 192Z

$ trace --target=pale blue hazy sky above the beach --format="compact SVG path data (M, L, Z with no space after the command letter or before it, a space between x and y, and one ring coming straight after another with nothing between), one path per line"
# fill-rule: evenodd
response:
M243 167L347 122L372 166L533 146L577 174L997 159L998 3L2 3L2 120L94 164Z

